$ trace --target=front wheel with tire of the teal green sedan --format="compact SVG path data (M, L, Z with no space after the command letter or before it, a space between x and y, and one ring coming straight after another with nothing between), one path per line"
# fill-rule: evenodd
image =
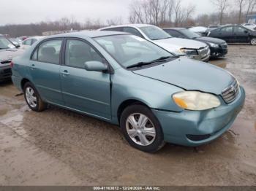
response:
M129 144L143 152L157 152L165 145L161 125L146 106L135 104L124 109L120 126Z

